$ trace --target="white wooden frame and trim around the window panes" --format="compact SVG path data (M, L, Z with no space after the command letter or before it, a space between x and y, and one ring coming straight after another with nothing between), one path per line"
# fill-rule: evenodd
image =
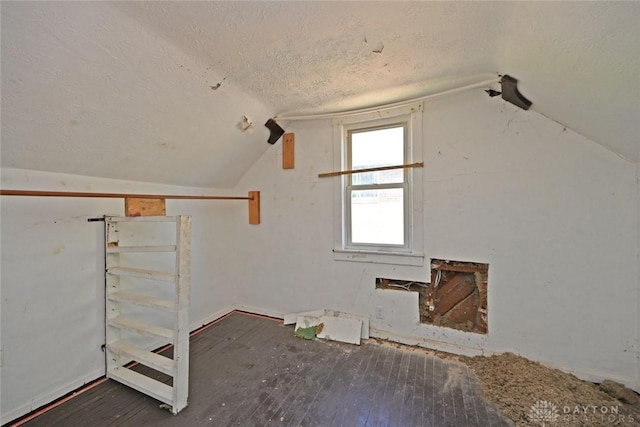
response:
M333 120L334 167L347 170L351 165L348 132L379 129L404 123L404 162L422 159L422 103L393 107L370 113L343 116ZM334 259L399 265L424 265L423 216L422 216L422 168L404 169L404 245L353 244L350 237L350 205L348 190L351 175L334 178ZM384 184L382 184L384 186ZM393 185L397 188L397 185ZM353 185L351 185L353 191ZM361 187L361 186L358 186ZM376 188L378 185L375 186ZM364 189L364 188L358 188Z

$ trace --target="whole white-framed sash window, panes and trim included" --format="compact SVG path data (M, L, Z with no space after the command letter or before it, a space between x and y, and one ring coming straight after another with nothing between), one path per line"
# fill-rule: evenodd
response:
M336 168L357 171L421 160L421 118L419 104L334 121ZM356 172L336 178L335 185L335 259L423 264L421 170Z

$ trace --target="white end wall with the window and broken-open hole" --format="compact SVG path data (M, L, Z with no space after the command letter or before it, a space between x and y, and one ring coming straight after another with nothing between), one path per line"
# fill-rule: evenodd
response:
M428 280L428 261L334 261L333 185L317 178L333 169L331 123L284 127L295 132L295 170L281 169L278 143L238 186L262 191L262 225L236 236L247 309L364 314L378 336L467 354L512 351L640 389L636 164L480 90L425 105L426 259L489 263L483 336L421 325L417 298L374 289L380 276Z

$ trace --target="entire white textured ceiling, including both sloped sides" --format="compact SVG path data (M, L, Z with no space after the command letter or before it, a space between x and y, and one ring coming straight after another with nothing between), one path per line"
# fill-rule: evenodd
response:
M269 149L269 117L498 74L533 110L640 161L640 2L2 2L1 14L3 167L231 187Z

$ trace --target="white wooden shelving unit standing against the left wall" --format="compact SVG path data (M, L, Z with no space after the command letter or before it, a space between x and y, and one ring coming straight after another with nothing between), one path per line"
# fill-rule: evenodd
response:
M175 244L123 245L121 229L126 227L127 241L135 241L135 228L137 224L143 223L164 223L164 227L167 227L166 223L174 223ZM105 233L107 378L170 405L171 412L177 414L187 406L189 385L191 217L106 216ZM144 260L144 257L153 257L153 254L158 253L175 254L175 266L172 271L129 266L131 259ZM137 255L129 255L131 259L123 266L122 261L127 257L125 254ZM130 286L130 283L136 281L144 282L144 293L140 293L135 286ZM173 296L167 298L166 295L170 294L167 287L171 286ZM136 307L144 307L142 310L151 314L139 316L144 320L136 318ZM164 319L164 323L154 324L149 319ZM168 327L168 324L172 326ZM138 337L153 339L154 343L172 344L173 358L153 353L140 346L138 343L141 340L137 339ZM132 361L171 376L171 385L129 369L127 366Z

